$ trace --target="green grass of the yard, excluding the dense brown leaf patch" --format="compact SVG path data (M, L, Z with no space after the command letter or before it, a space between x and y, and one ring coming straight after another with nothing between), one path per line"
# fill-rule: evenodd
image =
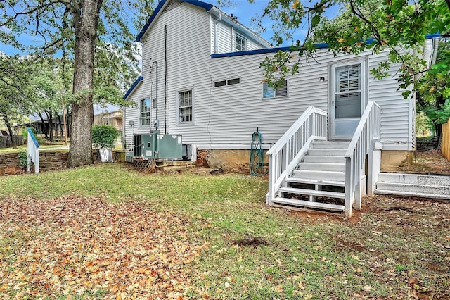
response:
M266 180L259 177L143 175L124 164L98 164L1 177L0 196L136 199L155 210L186 216L190 239L208 245L190 265L188 296L193 299L404 299L411 277L434 294L450 296L449 261L444 254L436 255L449 245L449 237L430 227L439 222L430 218L435 211L420 215L368 211L357 222L349 222L270 208L265 205L266 190ZM380 207L388 205L378 201ZM414 218L414 230L398 225L400 217ZM269 244L233 243L245 234ZM0 240L1 248L6 244ZM13 255L13 250L0 250L0 255ZM442 268L430 270L430 263ZM91 291L90 296L103 295Z

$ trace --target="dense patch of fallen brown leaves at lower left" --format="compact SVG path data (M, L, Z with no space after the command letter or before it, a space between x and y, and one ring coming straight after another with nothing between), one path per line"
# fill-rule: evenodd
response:
M203 246L189 222L145 202L64 197L0 199L0 295L178 298L184 265Z

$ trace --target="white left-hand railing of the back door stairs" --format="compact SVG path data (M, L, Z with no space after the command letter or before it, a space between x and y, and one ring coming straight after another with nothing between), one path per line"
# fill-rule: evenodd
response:
M273 205L283 180L293 172L314 139L327 139L327 113L309 107L267 151L269 156L269 192L266 204Z

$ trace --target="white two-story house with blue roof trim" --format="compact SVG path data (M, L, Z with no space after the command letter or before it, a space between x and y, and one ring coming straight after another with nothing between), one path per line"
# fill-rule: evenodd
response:
M325 114L321 139L349 141L368 104L374 102L380 107L375 125L382 168L411 159L416 106L413 97L404 99L397 91L399 65L383 80L369 73L387 60L386 52L333 56L326 44L319 44L316 58L301 58L300 72L274 91L264 83L259 64L283 48L271 47L211 4L163 0L137 40L143 46L143 74L124 96L135 102L124 111L126 147L136 146L133 136L155 130L156 122L160 132L181 135L183 144L195 144L210 165L248 170L255 130L267 150L311 106ZM425 44L428 61L432 46L432 40ZM302 139L302 133L295 135Z

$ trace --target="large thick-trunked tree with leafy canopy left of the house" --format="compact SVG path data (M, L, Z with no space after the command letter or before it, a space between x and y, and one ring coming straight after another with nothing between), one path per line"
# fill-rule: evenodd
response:
M152 8L150 0L6 0L2 9L0 42L23 49L18 35L26 33L43 39L34 46L39 56L62 56L74 61L72 86L72 127L68 167L92 163L91 125L95 93L96 49L133 57L134 32L127 20L142 24ZM108 42L108 43L107 43ZM130 59L132 63L134 59ZM115 64L103 65L115 67Z

